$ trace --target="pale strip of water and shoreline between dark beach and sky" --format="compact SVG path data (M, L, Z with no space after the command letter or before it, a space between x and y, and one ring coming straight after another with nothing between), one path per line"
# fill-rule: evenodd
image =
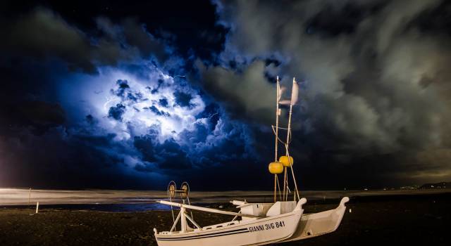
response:
M301 196L307 200L339 199L344 196L387 196L387 195L427 195L451 193L451 188L424 190L305 190ZM113 205L113 204L152 204L156 200L166 199L166 191L161 190L30 190L0 188L0 207L33 205ZM190 193L193 203L211 204L228 203L230 200L247 200L248 202L271 202L272 191L194 191Z

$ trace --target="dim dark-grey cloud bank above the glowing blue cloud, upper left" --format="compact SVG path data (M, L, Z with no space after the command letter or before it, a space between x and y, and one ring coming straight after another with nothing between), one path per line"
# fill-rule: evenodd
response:
M99 35L89 37L61 15L48 8L35 8L1 25L8 33L0 41L0 51L8 57L34 56L61 58L70 67L96 72L97 65L116 65L154 55L163 61L165 47L142 24L126 19L114 25L108 18L97 18Z

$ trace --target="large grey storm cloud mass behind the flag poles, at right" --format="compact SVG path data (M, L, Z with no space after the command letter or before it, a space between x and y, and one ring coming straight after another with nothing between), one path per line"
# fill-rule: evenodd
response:
M451 37L443 28L449 3L217 4L221 23L232 32L221 67L200 69L209 93L236 115L271 124L275 86L268 78L283 75L283 84L290 86L287 75L295 76L307 80L301 93L308 100L301 103L307 108L295 108L295 127L302 128L293 146L309 156L308 162L321 164L322 155L329 166L371 169L376 163L368 162L370 156L397 168L366 176L424 181L429 171L431 179L451 178L450 166L438 164L451 148ZM295 155L304 160L301 153Z

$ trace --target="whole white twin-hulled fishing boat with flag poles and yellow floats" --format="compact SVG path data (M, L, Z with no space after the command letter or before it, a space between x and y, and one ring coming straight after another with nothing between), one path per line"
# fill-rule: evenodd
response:
M246 201L230 201L239 209L238 212L211 209L190 204L190 186L184 182L177 189L175 182L168 185L168 200L159 200L163 205L171 206L173 226L169 231L157 231L154 235L159 246L190 246L190 245L218 245L218 246L241 246L241 245L267 245L270 243L289 242L313 238L337 230L345 214L346 202L349 198L342 198L340 205L328 211L304 214L304 205L307 200L299 196L299 190L293 171L293 158L289 153L291 140L291 117L293 105L297 103L299 85L293 78L292 95L290 100L281 100L283 91L280 81L276 81L276 126L272 126L276 136L275 160L268 166L268 170L274 175L273 202L249 203ZM281 110L279 105L290 105L288 116L288 128L279 127L279 116ZM279 130L287 131L286 141L279 138ZM278 157L278 145L282 143L285 147L285 155ZM294 190L291 191L288 182L288 170L292 174ZM278 175L283 174L283 189L280 188ZM288 200L292 193L292 200ZM180 195L181 202L173 201ZM175 216L173 207L178 207L178 215ZM216 214L227 214L233 219L221 224L199 226L194 221L191 210L209 212ZM178 226L180 224L180 226ZM180 231L176 231L176 228Z

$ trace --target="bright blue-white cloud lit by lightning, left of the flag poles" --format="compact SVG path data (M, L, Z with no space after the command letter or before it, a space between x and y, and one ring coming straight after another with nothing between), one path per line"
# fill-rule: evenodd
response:
M142 71L139 65L147 76L135 74ZM252 162L253 136L244 122L230 119L185 79L146 63L128 67L99 67L99 75L68 79L80 86L66 90L80 92L70 93L64 105L85 101L85 109L70 111L80 121L73 131L85 126L85 136L104 139L94 138L92 148L118 157L120 167L137 176L178 176L181 169Z

